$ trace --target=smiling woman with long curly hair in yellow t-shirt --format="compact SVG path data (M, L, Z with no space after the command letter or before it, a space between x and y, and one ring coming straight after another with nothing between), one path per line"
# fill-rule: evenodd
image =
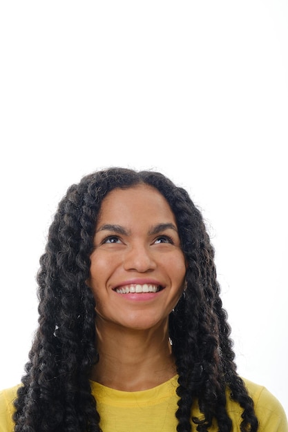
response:
M236 372L213 256L199 210L159 173L111 168L71 186L0 431L286 432L279 402Z

